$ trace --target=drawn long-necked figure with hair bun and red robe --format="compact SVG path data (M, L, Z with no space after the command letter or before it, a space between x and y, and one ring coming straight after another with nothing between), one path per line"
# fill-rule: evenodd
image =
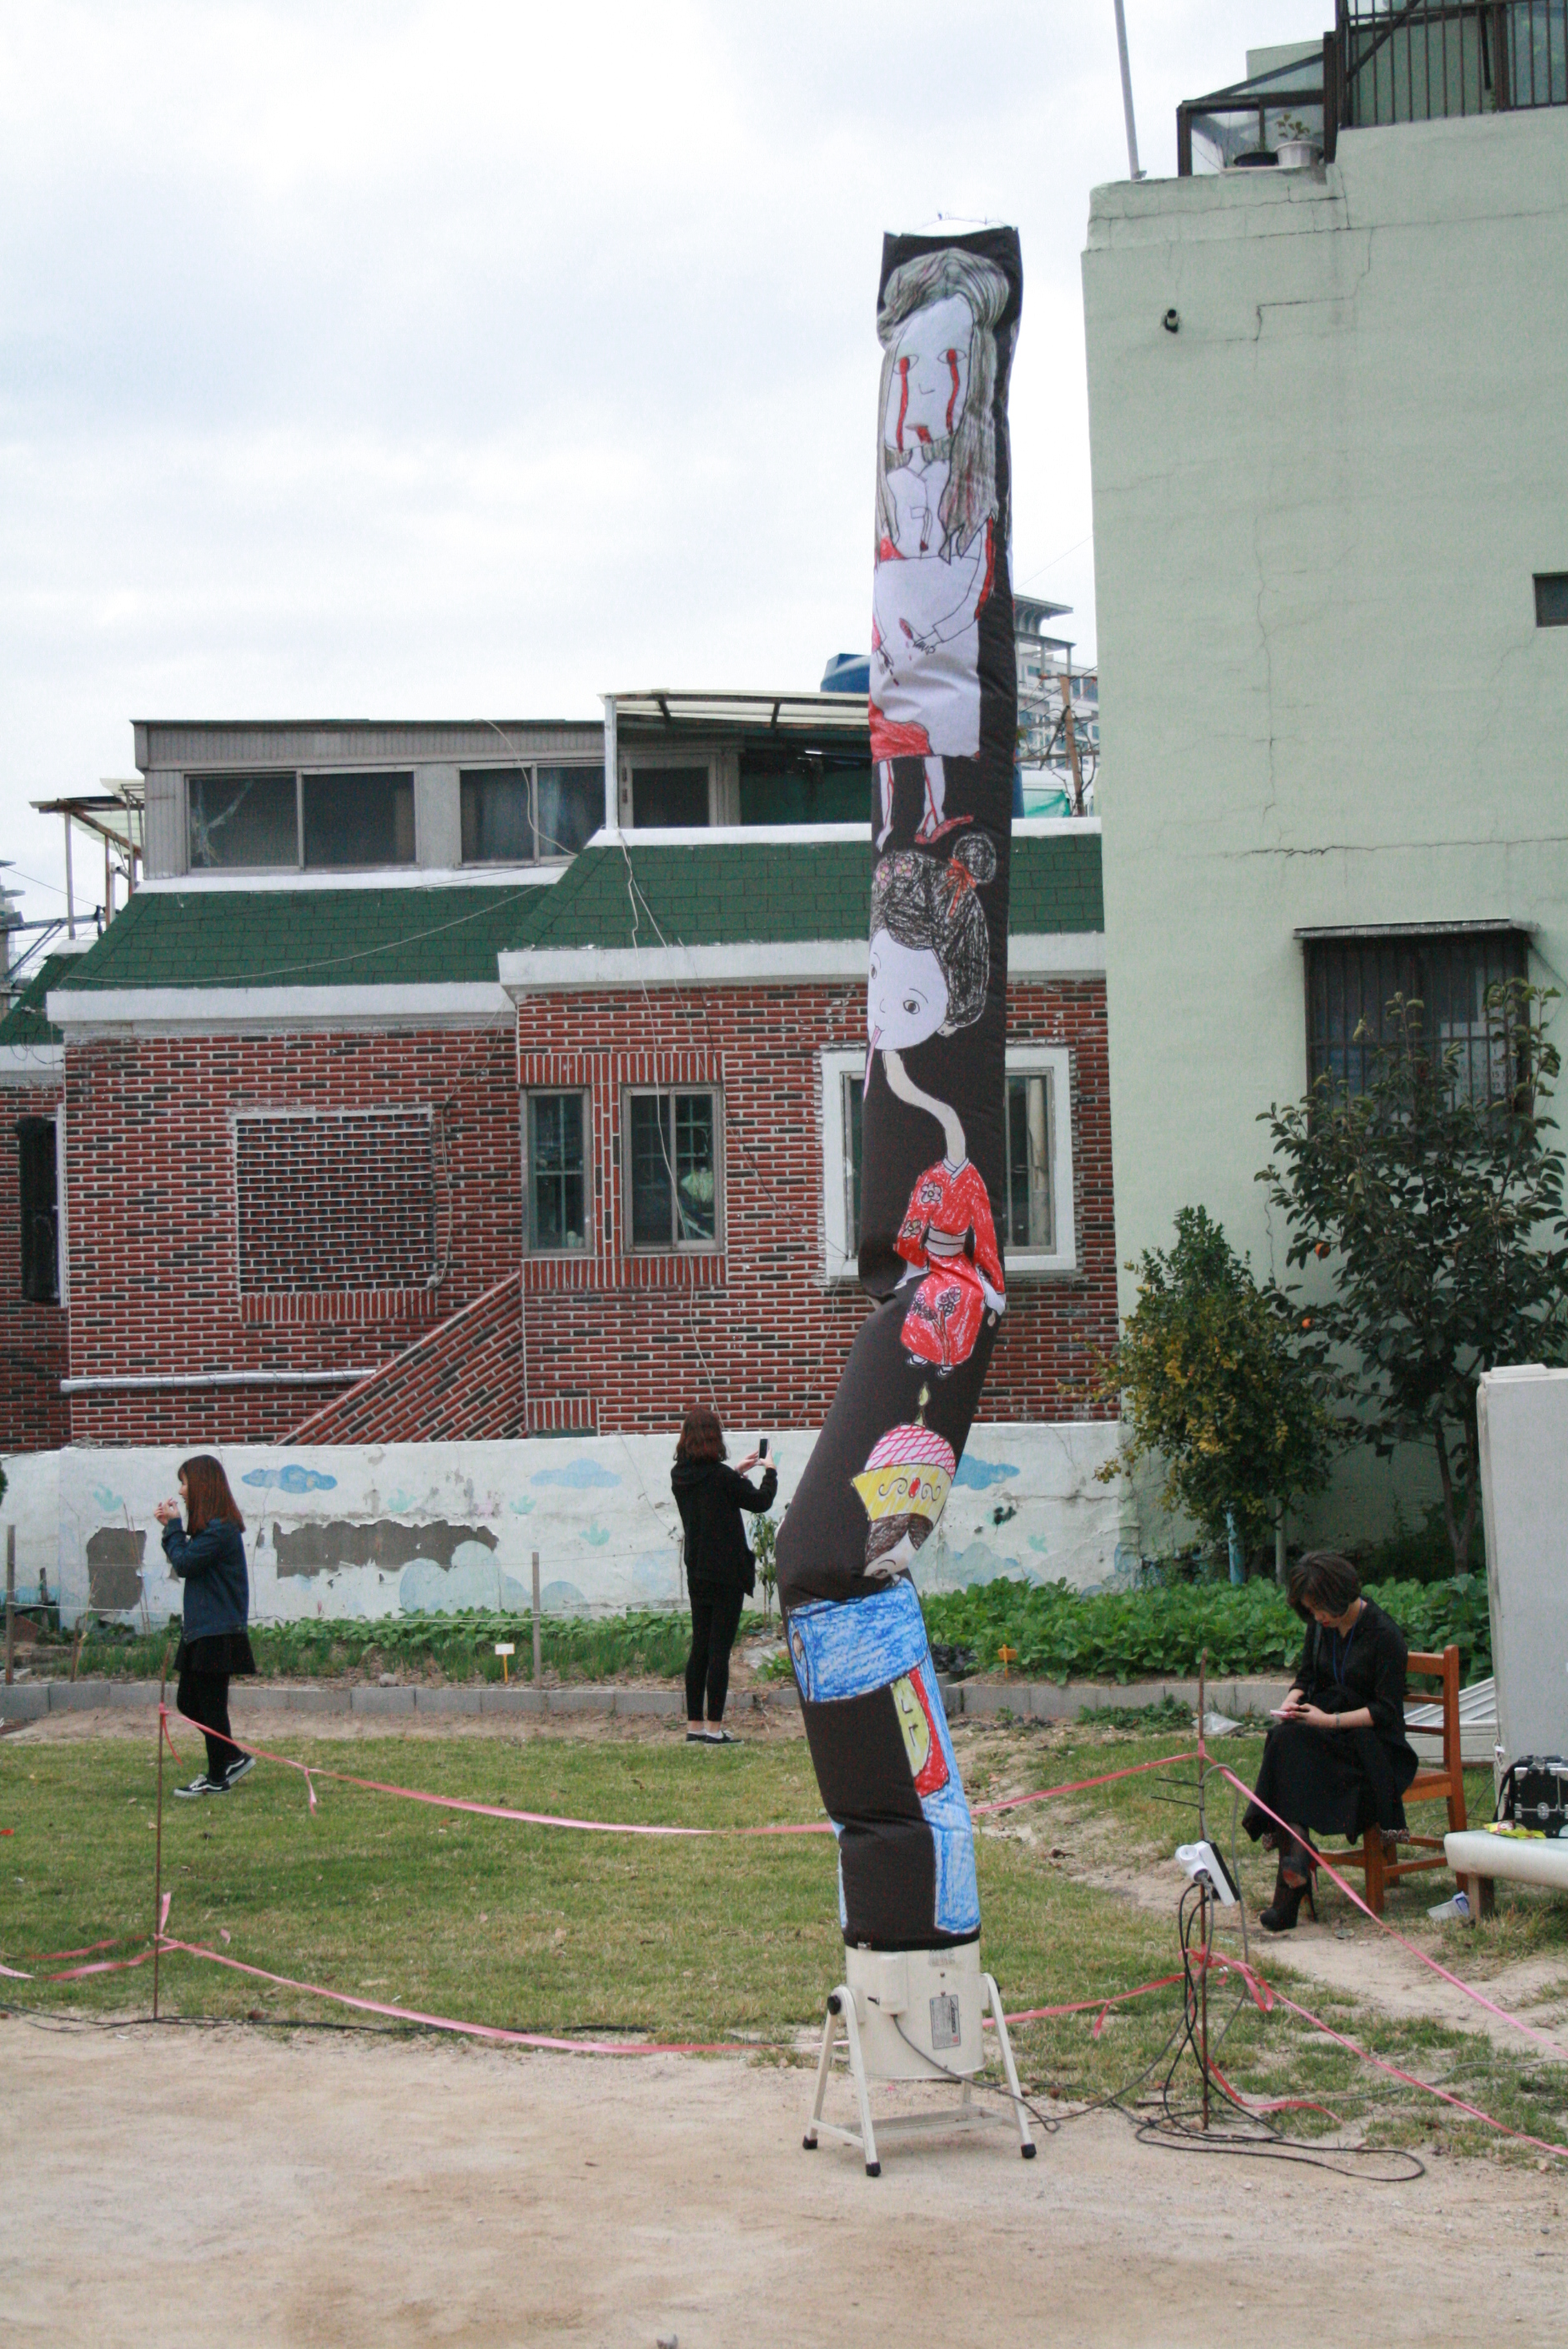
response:
M995 874L995 848L972 832L944 860L918 848L883 857L871 879L866 1076L883 1055L887 1090L941 1125L944 1156L918 1174L894 1240L920 1276L904 1315L904 1346L946 1377L974 1353L984 1318L1007 1311L1007 1280L991 1198L948 1102L922 1092L901 1052L927 1036L972 1027L986 1008L991 940L976 883Z

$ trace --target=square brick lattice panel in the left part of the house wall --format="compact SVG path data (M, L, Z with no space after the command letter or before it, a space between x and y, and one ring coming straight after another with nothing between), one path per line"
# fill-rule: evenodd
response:
M427 1109L235 1118L239 1290L411 1290L437 1271Z

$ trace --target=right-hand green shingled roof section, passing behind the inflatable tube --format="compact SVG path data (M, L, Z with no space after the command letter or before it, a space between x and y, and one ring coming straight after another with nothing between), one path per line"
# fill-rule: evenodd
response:
M758 841L714 848L584 848L549 893L528 947L629 947L631 876L636 944L683 947L798 944L807 937L864 937L871 909L866 841ZM627 862L631 871L627 871ZM1012 928L1101 930L1099 832L1012 843Z

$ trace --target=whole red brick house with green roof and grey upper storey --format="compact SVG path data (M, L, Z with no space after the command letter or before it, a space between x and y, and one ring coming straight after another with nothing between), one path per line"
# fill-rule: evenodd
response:
M819 1423L864 1313L864 702L138 726L136 759L148 879L12 1012L63 1203L54 1351L0 1299L14 1431ZM1014 836L988 1421L1089 1416L1115 1332L1099 850Z

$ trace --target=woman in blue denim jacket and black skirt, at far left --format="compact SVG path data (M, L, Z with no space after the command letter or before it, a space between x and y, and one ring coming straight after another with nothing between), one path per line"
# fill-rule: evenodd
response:
M244 1571L244 1517L228 1489L223 1466L197 1452L181 1466L185 1525L174 1501L157 1503L169 1574L185 1583L185 1618L174 1665L181 1675L176 1710L207 1734L207 1771L176 1795L228 1795L256 1757L242 1752L228 1724L228 1682L254 1672L251 1586Z

